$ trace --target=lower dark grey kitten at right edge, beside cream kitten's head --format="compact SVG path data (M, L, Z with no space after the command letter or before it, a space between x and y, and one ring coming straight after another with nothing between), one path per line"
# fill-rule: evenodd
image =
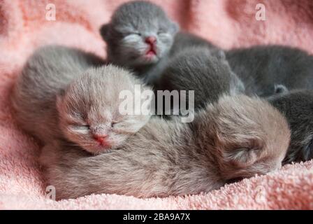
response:
M313 91L293 90L269 98L286 116L291 128L291 142L285 163L313 159Z

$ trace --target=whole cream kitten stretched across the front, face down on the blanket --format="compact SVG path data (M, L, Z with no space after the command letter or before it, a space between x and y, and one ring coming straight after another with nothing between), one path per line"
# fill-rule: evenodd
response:
M41 164L57 200L92 193L197 194L278 169L289 137L279 111L264 100L238 95L208 104L193 123L152 118L111 153L90 156L54 142L44 148Z

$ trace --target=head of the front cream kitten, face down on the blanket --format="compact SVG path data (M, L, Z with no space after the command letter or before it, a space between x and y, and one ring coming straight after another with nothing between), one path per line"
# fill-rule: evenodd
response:
M224 180L266 174L282 166L289 125L268 102L245 95L221 97L211 111L213 155Z

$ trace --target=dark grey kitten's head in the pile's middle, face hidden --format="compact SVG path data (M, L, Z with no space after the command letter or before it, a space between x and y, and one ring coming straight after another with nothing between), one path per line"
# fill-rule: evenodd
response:
M245 92L242 81L231 71L223 51L212 55L208 48L198 47L186 48L175 55L155 89L194 90L195 109L203 108L208 102L217 102L223 94Z

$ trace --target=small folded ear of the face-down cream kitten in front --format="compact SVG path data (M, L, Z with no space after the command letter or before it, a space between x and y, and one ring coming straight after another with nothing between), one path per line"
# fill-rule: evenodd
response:
M224 153L224 159L227 162L233 162L238 167L247 167L260 158L264 145L265 142L262 139L250 139L244 147L233 148Z

